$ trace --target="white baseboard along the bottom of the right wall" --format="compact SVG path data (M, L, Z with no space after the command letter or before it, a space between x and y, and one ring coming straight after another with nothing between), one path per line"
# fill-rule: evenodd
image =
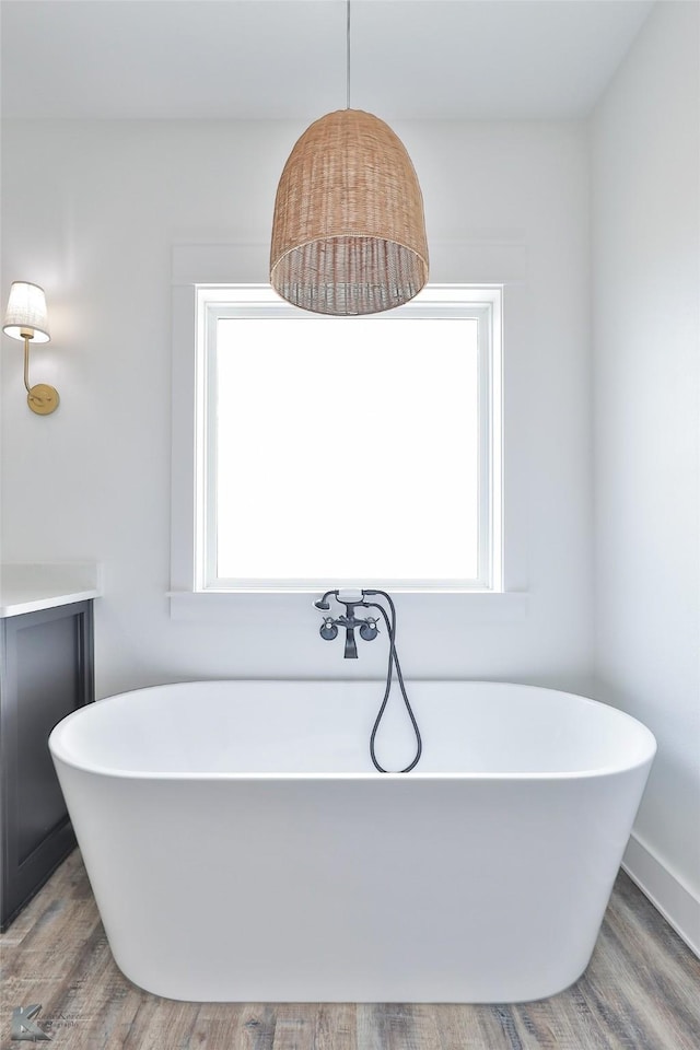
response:
M700 900L632 832L622 867L700 958Z

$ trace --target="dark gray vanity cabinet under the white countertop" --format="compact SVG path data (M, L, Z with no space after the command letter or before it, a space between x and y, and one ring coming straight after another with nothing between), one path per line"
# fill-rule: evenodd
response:
M48 750L62 718L94 700L92 602L0 620L0 930L75 845Z

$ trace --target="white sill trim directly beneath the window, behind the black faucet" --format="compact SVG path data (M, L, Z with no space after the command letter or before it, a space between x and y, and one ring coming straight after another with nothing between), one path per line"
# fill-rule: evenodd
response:
M390 592L398 611L454 609L460 622L512 623L525 620L526 591L398 591ZM252 611L299 615L312 611L318 591L168 591L172 620L236 620ZM316 615L317 610L313 610Z

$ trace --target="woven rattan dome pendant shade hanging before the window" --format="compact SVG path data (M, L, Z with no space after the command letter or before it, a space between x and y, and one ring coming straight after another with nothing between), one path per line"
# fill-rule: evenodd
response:
M292 150L277 190L270 282L318 314L376 314L428 280L423 198L400 139L378 117L338 109Z

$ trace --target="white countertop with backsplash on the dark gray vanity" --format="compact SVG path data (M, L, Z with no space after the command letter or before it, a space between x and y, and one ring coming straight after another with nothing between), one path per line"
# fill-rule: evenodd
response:
M84 602L101 593L94 563L0 565L0 618Z

